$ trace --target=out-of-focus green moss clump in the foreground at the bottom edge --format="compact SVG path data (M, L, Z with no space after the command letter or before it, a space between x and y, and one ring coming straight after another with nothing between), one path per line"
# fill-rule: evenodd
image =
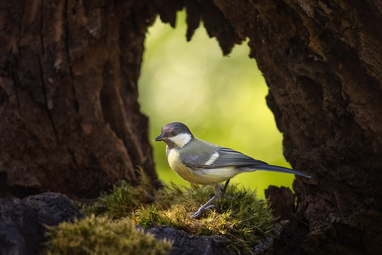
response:
M131 220L86 217L48 227L47 254L168 254L170 242L144 234Z

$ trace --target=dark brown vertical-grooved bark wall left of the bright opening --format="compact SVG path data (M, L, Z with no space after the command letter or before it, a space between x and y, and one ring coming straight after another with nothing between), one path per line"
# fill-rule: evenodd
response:
M151 17L154 17L151 14ZM0 1L0 184L96 197L156 174L137 80L139 1Z

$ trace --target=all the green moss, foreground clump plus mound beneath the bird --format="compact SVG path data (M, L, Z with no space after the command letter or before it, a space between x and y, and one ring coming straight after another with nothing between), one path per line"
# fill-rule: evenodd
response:
M137 187L122 181L96 203L78 204L86 215L83 220L49 227L47 254L115 254L115 249L127 254L129 249L142 249L139 254L166 254L170 250L170 242L144 234L135 224L144 228L168 225L199 236L224 235L230 241L228 248L240 253L272 229L274 218L265 201L255 191L236 185L228 186L226 196L215 200L214 208L191 218L190 213L212 196L212 186L172 184L155 190L146 178Z

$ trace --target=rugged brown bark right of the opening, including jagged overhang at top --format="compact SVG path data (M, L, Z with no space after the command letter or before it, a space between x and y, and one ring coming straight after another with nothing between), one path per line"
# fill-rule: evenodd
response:
M292 244L275 252L380 253L381 1L213 0L185 6L188 39L200 20L224 54L249 38L250 57L270 87L267 103L284 133L284 154L295 169L313 176L296 177L294 222L281 240ZM294 200L282 190L270 194L291 201L279 213L287 215Z

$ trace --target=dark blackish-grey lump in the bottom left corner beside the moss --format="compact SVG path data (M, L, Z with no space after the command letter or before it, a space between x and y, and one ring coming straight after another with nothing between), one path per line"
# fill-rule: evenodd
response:
M44 225L81 218L74 203L59 193L42 193L20 199L0 198L0 254L39 254Z

